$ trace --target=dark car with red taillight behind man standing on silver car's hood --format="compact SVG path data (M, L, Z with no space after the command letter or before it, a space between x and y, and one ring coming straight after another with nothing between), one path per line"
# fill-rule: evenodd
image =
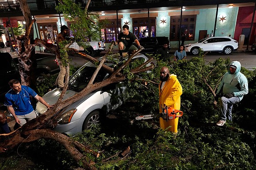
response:
M60 71L60 67L56 61L56 55L50 53L36 53L37 61L36 77L45 77ZM18 58L14 58L15 63L19 67Z

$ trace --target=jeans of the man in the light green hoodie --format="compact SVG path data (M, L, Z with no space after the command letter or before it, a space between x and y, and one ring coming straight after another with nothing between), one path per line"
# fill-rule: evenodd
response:
M220 119L226 121L226 119L232 121L232 108L233 104L240 102L239 97L221 97L220 99Z

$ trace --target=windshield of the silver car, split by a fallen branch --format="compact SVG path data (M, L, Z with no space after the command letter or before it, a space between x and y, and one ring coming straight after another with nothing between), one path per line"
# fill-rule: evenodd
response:
M96 67L92 63L88 63L87 65L84 65L81 67L70 79L69 81L69 89L72 89L73 91L80 92L82 91L89 83L90 78L94 74L94 71L96 70ZM103 81L105 78L107 72L105 72L103 69L101 69L94 82L100 82Z

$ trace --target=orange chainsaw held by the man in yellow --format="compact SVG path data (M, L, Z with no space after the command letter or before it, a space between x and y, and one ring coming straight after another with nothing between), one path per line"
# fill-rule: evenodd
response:
M178 115L177 115L177 113L178 113ZM136 120L144 120L144 119L162 117L167 122L168 120L173 120L175 118L181 117L182 115L183 115L182 111L174 109L173 107L167 107L167 108L162 109L162 113L138 116L138 117L136 117Z

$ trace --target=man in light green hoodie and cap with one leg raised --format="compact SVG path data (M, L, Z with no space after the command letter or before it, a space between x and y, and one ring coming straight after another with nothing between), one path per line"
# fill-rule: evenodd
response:
M217 126L223 126L226 119L232 121L233 104L240 102L243 96L248 93L248 81L244 74L240 72L241 63L233 61L229 66L229 71L226 72L220 82L216 92L215 100L220 100L220 120L216 123ZM223 94L223 95L222 95Z

